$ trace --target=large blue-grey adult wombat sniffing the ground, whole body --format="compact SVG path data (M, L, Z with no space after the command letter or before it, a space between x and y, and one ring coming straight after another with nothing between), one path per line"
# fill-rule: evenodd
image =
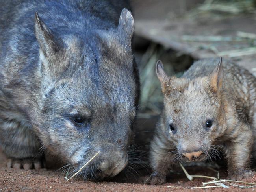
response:
M139 96L127 3L0 4L0 144L8 165L40 168L47 150L72 174L100 151L79 174L117 175L128 163Z

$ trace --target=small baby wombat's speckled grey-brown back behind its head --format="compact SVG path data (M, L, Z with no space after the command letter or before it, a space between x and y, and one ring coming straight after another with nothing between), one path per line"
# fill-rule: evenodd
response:
M210 76L219 58L200 59L187 70L183 78ZM256 78L247 69L223 59L223 98L233 105L240 118L251 125L256 121Z

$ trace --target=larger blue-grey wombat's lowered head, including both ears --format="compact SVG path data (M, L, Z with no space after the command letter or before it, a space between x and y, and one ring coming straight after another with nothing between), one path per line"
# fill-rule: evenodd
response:
M37 134L73 173L100 151L79 172L86 179L115 176L128 162L139 94L133 30L127 9L115 29L63 36L35 15L41 63Z

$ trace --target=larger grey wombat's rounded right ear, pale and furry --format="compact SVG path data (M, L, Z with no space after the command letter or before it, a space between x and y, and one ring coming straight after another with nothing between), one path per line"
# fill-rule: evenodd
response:
M134 18L132 17L132 13L126 8L122 9L117 30L124 36L126 43L130 44L134 32Z

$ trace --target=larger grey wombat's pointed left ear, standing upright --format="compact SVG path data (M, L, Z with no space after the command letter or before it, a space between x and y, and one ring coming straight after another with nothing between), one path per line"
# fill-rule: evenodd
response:
M54 37L52 31L39 18L37 12L35 12L35 37L45 57L61 49L61 40Z

